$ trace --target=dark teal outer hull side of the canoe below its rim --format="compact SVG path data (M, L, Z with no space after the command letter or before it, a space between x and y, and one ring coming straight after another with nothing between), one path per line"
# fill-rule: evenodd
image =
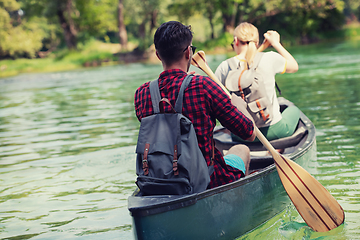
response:
M304 166L314 156L315 144L296 162ZM215 188L207 192L206 195L210 196L197 199L196 204L188 207L149 216L133 216L136 238L234 239L253 230L290 204L276 168L270 168L240 186L238 182L229 184L229 190L224 189L226 194L215 194Z

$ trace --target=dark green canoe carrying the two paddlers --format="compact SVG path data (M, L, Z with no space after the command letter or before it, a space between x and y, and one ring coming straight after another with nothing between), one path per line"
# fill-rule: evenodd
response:
M292 104L279 98L281 108ZM216 147L233 144L226 129L214 133ZM301 113L297 130L286 139L271 141L282 155L307 169L316 159L315 127ZM290 199L274 161L261 143L251 143L250 174L235 182L186 196L136 196L128 199L136 239L234 239L283 211Z

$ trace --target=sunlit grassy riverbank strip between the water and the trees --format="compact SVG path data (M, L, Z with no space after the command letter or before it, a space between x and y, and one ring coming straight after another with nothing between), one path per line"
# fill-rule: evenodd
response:
M360 38L360 24L353 23L346 25L342 30L329 32L316 40L307 47L316 47L319 44L326 44L329 41L344 41ZM222 37L206 42L194 42L199 50L204 50L207 54L233 54L228 43L232 36L224 34ZM293 40L285 39L282 43L286 48L298 47L292 46ZM115 43L104 43L100 41L91 41L84 46L79 47L78 51L68 51L66 49L50 53L44 58L35 59L16 59L0 61L0 79L15 76L23 73L33 72L61 72L87 67L99 67L116 64L127 64L133 62L159 63L154 47L150 47L146 52L140 53L134 51L137 47L135 43L129 43L128 51L121 52L120 45ZM301 46L301 48L304 45Z

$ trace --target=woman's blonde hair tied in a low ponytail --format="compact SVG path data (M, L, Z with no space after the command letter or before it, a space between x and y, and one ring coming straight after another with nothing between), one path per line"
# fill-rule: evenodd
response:
M237 39L239 39L242 43L248 44L245 59L247 62L247 67L249 67L252 64L256 54L256 43L259 42L259 31L251 23L243 22L235 28L234 37L237 37Z

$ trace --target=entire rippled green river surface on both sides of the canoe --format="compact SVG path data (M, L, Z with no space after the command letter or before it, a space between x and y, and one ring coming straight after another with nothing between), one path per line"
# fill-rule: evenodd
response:
M290 205L239 239L360 239L360 41L291 52L300 70L277 81L316 126L310 172L345 224L313 232ZM208 56L210 67L224 57ZM133 96L161 71L129 64L0 79L0 239L133 239Z

